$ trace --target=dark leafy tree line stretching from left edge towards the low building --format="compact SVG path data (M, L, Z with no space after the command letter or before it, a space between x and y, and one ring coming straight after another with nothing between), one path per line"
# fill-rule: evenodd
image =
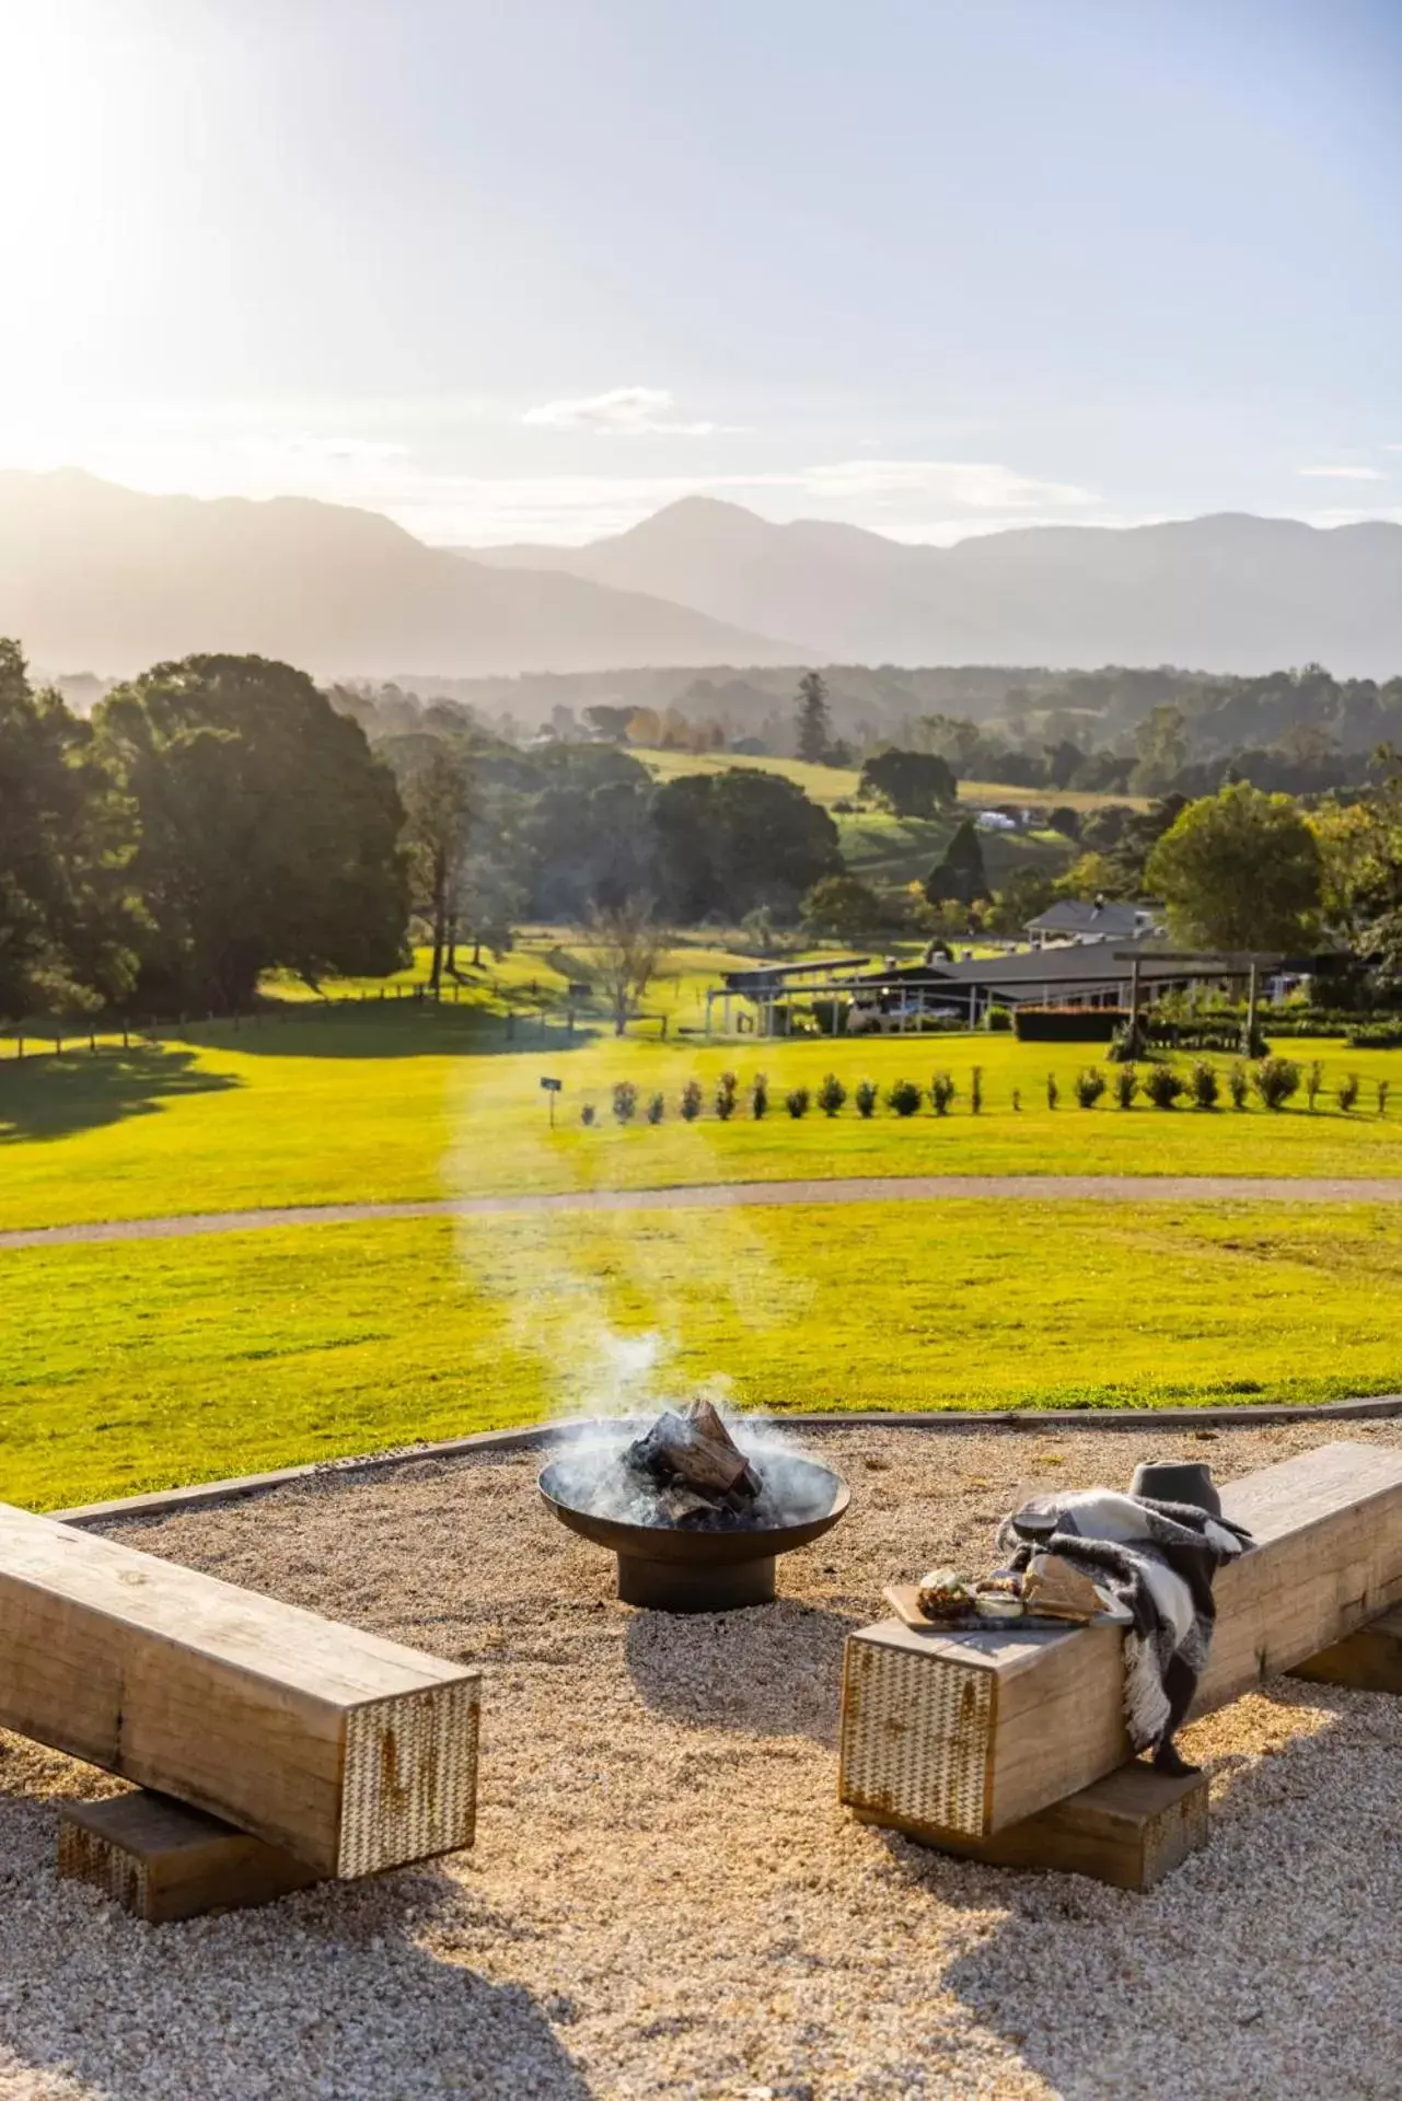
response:
M658 784L605 746L519 750L446 712L372 748L307 672L156 664L88 719L0 641L0 1015L238 1013L271 969L435 977L523 918L795 916L837 826L759 771Z

